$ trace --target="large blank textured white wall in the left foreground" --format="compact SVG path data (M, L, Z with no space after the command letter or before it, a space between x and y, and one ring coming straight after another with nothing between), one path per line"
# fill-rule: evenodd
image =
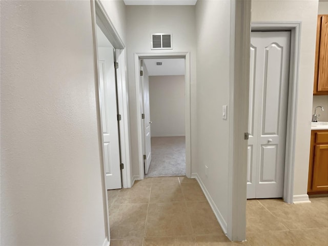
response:
M1 1L1 244L103 245L89 1Z

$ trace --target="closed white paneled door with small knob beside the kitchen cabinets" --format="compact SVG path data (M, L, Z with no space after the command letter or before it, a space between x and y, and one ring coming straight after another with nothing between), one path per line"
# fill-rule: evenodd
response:
M291 33L252 32L247 198L283 196Z

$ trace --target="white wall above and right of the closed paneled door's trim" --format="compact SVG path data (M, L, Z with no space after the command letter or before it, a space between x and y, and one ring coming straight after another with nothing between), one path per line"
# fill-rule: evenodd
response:
M294 195L308 189L317 1L253 1L252 22L302 22L296 115Z

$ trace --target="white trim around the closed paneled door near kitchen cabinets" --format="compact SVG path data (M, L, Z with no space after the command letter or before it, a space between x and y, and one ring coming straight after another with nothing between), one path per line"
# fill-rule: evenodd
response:
M283 200L293 202L296 112L299 74L299 47L301 22L252 22L252 31L291 31L291 62L288 93L288 116L286 134L285 174Z

